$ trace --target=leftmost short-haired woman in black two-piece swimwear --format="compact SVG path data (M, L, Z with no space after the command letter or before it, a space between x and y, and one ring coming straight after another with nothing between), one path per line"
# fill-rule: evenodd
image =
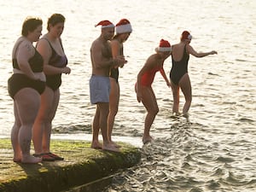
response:
M32 45L41 36L42 24L41 19L27 18L12 53L14 73L8 80L8 90L14 100L15 125L11 131L11 142L15 162L42 161L30 154L32 125L40 107L40 94L45 88L44 61Z

